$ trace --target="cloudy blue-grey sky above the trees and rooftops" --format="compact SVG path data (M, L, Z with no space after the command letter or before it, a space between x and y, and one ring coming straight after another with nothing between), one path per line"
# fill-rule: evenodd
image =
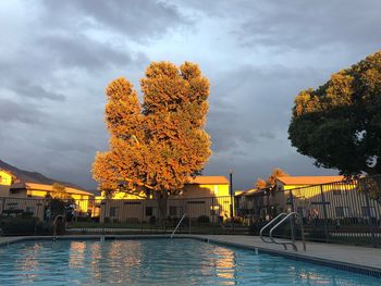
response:
M381 49L381 1L0 1L0 160L95 188L108 148L105 87L137 88L151 61L196 62L210 79L207 175L246 189L274 166L317 169L291 147L297 92Z

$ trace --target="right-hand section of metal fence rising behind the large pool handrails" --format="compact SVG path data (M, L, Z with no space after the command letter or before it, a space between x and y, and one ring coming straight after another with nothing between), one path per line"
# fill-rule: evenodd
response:
M381 247L381 176L259 191L236 204L254 233L278 213L295 211L309 240ZM278 235L290 237L287 229Z

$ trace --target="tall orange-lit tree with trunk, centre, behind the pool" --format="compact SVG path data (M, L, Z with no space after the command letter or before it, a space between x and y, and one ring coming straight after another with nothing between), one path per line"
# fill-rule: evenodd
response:
M185 62L179 69L152 62L140 86L143 104L127 79L108 85L110 149L97 152L93 177L108 192L153 194L162 220L168 196L179 194L189 176L199 174L211 154L204 129L209 82L197 64Z

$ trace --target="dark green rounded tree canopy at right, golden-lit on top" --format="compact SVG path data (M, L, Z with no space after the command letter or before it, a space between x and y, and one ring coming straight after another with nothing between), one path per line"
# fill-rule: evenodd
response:
M381 52L295 98L291 142L317 166L381 173Z

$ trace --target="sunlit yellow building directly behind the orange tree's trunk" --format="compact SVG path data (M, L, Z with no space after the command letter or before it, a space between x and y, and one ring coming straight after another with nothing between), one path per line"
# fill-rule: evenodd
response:
M167 202L169 217L181 217L186 213L190 219L208 216L209 221L223 221L230 217L232 200L229 181L224 176L196 176L189 178L177 196ZM100 221L149 222L158 217L158 203L155 192L151 198L114 194L110 199L97 197Z

